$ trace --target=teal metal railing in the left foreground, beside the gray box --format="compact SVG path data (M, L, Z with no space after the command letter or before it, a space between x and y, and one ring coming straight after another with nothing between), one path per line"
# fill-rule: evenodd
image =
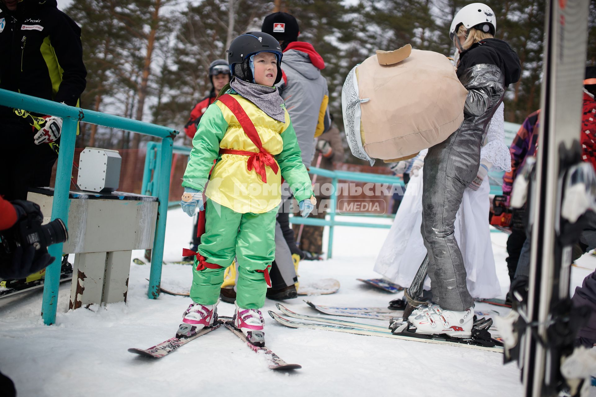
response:
M117 130L126 130L144 135L159 137L161 143L151 142L159 148L156 157L153 157L154 180L166 183L157 183L152 193L157 193L159 206L157 208L157 225L151 255L151 274L147 296L156 299L159 296L160 280L162 279L163 244L166 235L167 199L169 196L170 166L172 164L173 137L178 131L168 127L144 123L102 112L85 110L23 95L16 92L0 89L0 105L10 108L23 109L39 114L55 115L63 118L62 133L60 137L60 155L54 185L54 204L52 206L52 220L61 218L68 227L69 217L69 191L72 174L73 158L75 155L75 140L77 123L82 121L89 124L98 124ZM149 155L147 156L149 157ZM145 176L143 177L145 182ZM144 190L145 191L145 190ZM154 195L154 194L152 194ZM58 285L60 283L60 262L63 244L54 244L48 247L48 252L57 259L46 268L44 282L44 297L42 300L42 317L45 324L53 324L56 320L58 303Z

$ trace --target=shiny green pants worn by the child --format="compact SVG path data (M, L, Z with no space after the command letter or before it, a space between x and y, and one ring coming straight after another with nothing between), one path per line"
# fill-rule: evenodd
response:
M241 214L207 199L205 232L198 253L208 263L222 266L197 271L193 267L193 302L213 305L218 301L225 268L238 261L236 303L244 309L260 309L265 304L265 270L275 259L275 217L277 208L262 214Z

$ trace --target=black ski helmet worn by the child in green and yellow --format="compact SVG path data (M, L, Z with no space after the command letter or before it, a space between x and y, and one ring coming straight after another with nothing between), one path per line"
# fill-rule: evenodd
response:
M280 43L275 40L275 37L263 32L247 32L232 40L228 48L228 63L232 76L252 82L253 75L249 67L249 58L259 52L271 52L277 57L275 84L279 83L281 81L281 58L283 57ZM236 64L240 64L244 76L238 76Z

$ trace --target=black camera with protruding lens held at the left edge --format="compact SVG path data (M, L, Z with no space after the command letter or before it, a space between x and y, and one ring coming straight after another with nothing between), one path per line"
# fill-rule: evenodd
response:
M21 200L14 201L13 204L21 210L17 212L24 212L24 215L20 216L13 227L0 232L0 255L9 256L18 247L30 245L35 251L46 252L49 245L63 243L68 239L69 233L60 218L42 225L44 218L37 204Z

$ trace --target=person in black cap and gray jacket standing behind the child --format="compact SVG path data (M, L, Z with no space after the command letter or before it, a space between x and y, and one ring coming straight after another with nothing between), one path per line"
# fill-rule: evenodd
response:
M280 42L284 53L282 80L278 83L280 95L284 99L285 108L292 119L302 162L309 168L315 154L315 137L325 132L331 125L327 104L329 90L327 80L321 70L325 62L310 43L299 42L300 28L293 15L286 12L275 12L263 20L262 32L269 33ZM284 201L289 196L284 196ZM272 264L272 287L268 290L271 299L296 298L294 282L297 281L296 270L291 253L296 251L293 233L282 230L281 225L288 225L288 205L281 205L275 233L275 261ZM280 222L281 220L281 222ZM284 236L287 236L284 238ZM289 241L288 241L289 240ZM291 249L290 249L291 248ZM302 256L302 255L301 255Z

